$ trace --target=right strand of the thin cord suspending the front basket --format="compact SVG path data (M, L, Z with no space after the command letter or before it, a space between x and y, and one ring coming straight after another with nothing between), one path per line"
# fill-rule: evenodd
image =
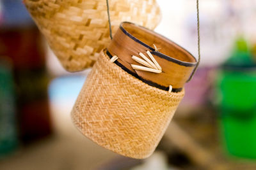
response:
M199 20L199 2L198 1L199 0L196 0L198 61L197 61L196 67L193 70L193 72L191 73L191 76L189 77L188 81L190 81L193 78L194 74L196 73L196 69L198 69L198 66L199 66L200 60L201 60L201 55L200 55L200 20Z

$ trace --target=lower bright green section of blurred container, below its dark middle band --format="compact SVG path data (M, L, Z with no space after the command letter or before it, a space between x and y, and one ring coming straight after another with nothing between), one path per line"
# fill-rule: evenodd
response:
M223 144L236 157L256 159L256 111L222 110L220 119Z

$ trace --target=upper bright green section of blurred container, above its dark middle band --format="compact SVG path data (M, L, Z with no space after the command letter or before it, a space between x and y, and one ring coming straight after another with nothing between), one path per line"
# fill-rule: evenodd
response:
M221 106L234 110L256 108L256 68L237 70L220 73Z

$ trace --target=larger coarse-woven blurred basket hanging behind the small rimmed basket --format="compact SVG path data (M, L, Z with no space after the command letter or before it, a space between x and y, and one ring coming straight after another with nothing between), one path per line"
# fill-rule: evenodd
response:
M109 44L106 0L24 0L52 51L67 71L94 64ZM156 0L111 0L113 33L122 21L154 29L161 18Z

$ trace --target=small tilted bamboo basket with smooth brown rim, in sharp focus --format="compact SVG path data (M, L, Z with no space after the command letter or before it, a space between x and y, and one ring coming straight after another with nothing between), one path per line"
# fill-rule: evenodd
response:
M158 52L156 46L174 57ZM153 57L159 69L137 62L135 55L141 53L152 55L147 59ZM122 23L88 75L72 109L72 121L100 146L144 159L163 137L195 65L196 59L172 41L144 27Z

